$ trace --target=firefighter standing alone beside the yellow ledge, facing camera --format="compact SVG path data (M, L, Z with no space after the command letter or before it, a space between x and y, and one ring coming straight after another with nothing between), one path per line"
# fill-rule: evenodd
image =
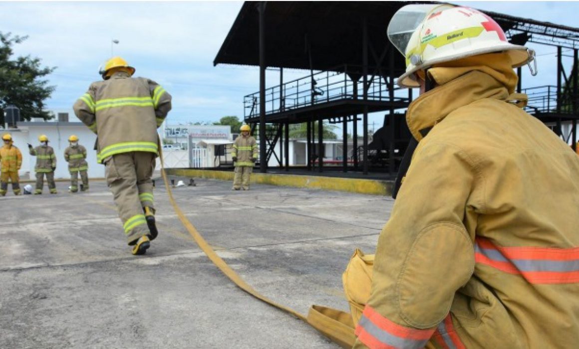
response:
M235 166L232 190L239 190L242 186L243 190L250 190L250 177L257 160L258 148L255 138L250 136L249 125L241 126L240 131L241 135L235 139L231 152Z

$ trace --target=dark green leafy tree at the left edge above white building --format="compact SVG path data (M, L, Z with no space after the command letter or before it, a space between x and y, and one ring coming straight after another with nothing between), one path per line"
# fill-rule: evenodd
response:
M22 43L28 36L12 36L0 32L0 109L13 104L20 109L20 117L52 119L53 113L44 110L44 101L50 98L55 87L48 86L49 75L56 67L41 67L40 58L12 57L14 44ZM0 116L3 116L0 112Z

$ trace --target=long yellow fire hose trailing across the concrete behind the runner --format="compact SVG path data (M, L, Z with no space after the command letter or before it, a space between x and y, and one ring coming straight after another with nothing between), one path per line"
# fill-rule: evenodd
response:
M165 183L165 188L167 188L167 195L169 197L169 201L171 205L173 205L173 209L175 210L175 214L177 214L179 221L183 223L185 229L189 232L189 234L193 237L193 240L199 245L199 248L207 255L207 257L211 260L215 266L225 274L229 280L233 281L239 288L243 289L243 291L249 293L250 295L254 296L255 298L270 304L280 310L285 311L288 314L293 315L294 317L301 319L302 321L306 322L313 328L316 328L320 332L322 332L325 336L329 337L332 341L339 344L342 347L352 347L354 344L354 329L353 325L351 325L351 317L350 314L344 313L339 310L335 310L332 308L326 308L322 306L312 306L310 308L309 314L307 317L298 313L297 311L293 310L292 308L283 306L282 304L276 303L273 300L269 299L268 297L262 295L258 291L256 291L250 284L245 282L243 278L239 276L229 265L223 260L221 257L215 253L214 249L207 243L207 241L201 236L201 234L197 231L195 226L189 219L185 217L179 205L175 202L173 197L173 192L171 191L171 186L168 184L167 174L165 173L165 168L163 164L163 153L162 150L159 148L159 156L161 161L161 175L163 177L163 181Z

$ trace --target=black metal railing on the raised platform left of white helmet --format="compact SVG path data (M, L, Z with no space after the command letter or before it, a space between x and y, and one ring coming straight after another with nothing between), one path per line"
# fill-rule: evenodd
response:
M336 100L361 100L364 96L362 78L357 82L349 74L360 75L361 67L343 65L330 71L317 72L303 78L286 82L265 90L265 114L291 111L305 106ZM374 68L369 67L373 72ZM389 86L379 75L368 79L369 101L390 101ZM397 85L393 90L403 90ZM394 95L394 94L393 94ZM408 92L405 97L400 93L392 101L410 102ZM259 116L259 91L243 97L244 119Z

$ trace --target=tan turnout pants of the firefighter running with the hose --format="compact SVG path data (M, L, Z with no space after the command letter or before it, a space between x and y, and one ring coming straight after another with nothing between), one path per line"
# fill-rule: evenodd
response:
M150 152L128 152L115 154L105 161L107 185L114 196L129 245L150 234L144 207L155 210L151 181L155 156Z

